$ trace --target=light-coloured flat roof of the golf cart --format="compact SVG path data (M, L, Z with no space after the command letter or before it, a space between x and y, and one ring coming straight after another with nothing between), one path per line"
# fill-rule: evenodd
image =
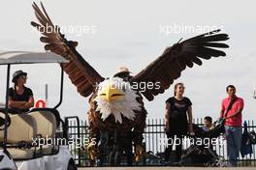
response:
M35 63L68 63L69 61L53 52L1 51L0 65L35 64Z

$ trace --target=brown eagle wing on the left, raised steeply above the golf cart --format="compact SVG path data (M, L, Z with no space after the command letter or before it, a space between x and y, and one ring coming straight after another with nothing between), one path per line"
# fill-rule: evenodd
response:
M93 86L103 81L104 78L80 56L76 50L78 42L67 41L60 33L60 28L53 25L42 3L42 10L36 3L33 3L32 7L39 23L32 21L31 25L43 34L40 41L47 43L46 50L59 54L70 61L64 64L64 71L68 73L72 83L77 86L80 95L88 97L93 92Z

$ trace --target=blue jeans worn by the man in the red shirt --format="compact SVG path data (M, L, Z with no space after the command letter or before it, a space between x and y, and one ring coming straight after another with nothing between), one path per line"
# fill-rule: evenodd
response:
M238 157L240 156L241 145L241 127L225 126L227 139L227 150L229 162L232 166L238 166Z

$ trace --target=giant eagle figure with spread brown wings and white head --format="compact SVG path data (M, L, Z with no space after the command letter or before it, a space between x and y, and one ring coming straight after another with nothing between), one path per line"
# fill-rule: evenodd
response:
M219 48L229 47L223 43L229 39L228 35L215 30L167 47L162 55L134 76L117 75L104 78L76 50L78 42L68 41L60 33L59 27L52 23L43 4L41 3L41 9L36 3L32 6L39 22L32 21L31 24L43 34L40 41L47 43L45 49L70 61L64 64L64 71L82 97L90 96L90 138L99 138L104 131L114 133L117 130L119 134L132 136L136 153L141 153L145 128L146 110L143 97L153 100L173 84L181 71L187 67L192 68L194 64L201 66L202 59L226 56ZM146 88L142 91L140 87L131 87L142 82L157 84L158 88Z

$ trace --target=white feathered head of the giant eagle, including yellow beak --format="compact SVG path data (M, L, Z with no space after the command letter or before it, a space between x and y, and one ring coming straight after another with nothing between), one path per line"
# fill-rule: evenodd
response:
M122 124L122 116L134 120L134 110L142 110L138 97L130 83L122 78L106 79L98 85L97 97L94 99L97 102L96 111L100 111L103 121L113 115L115 123Z

